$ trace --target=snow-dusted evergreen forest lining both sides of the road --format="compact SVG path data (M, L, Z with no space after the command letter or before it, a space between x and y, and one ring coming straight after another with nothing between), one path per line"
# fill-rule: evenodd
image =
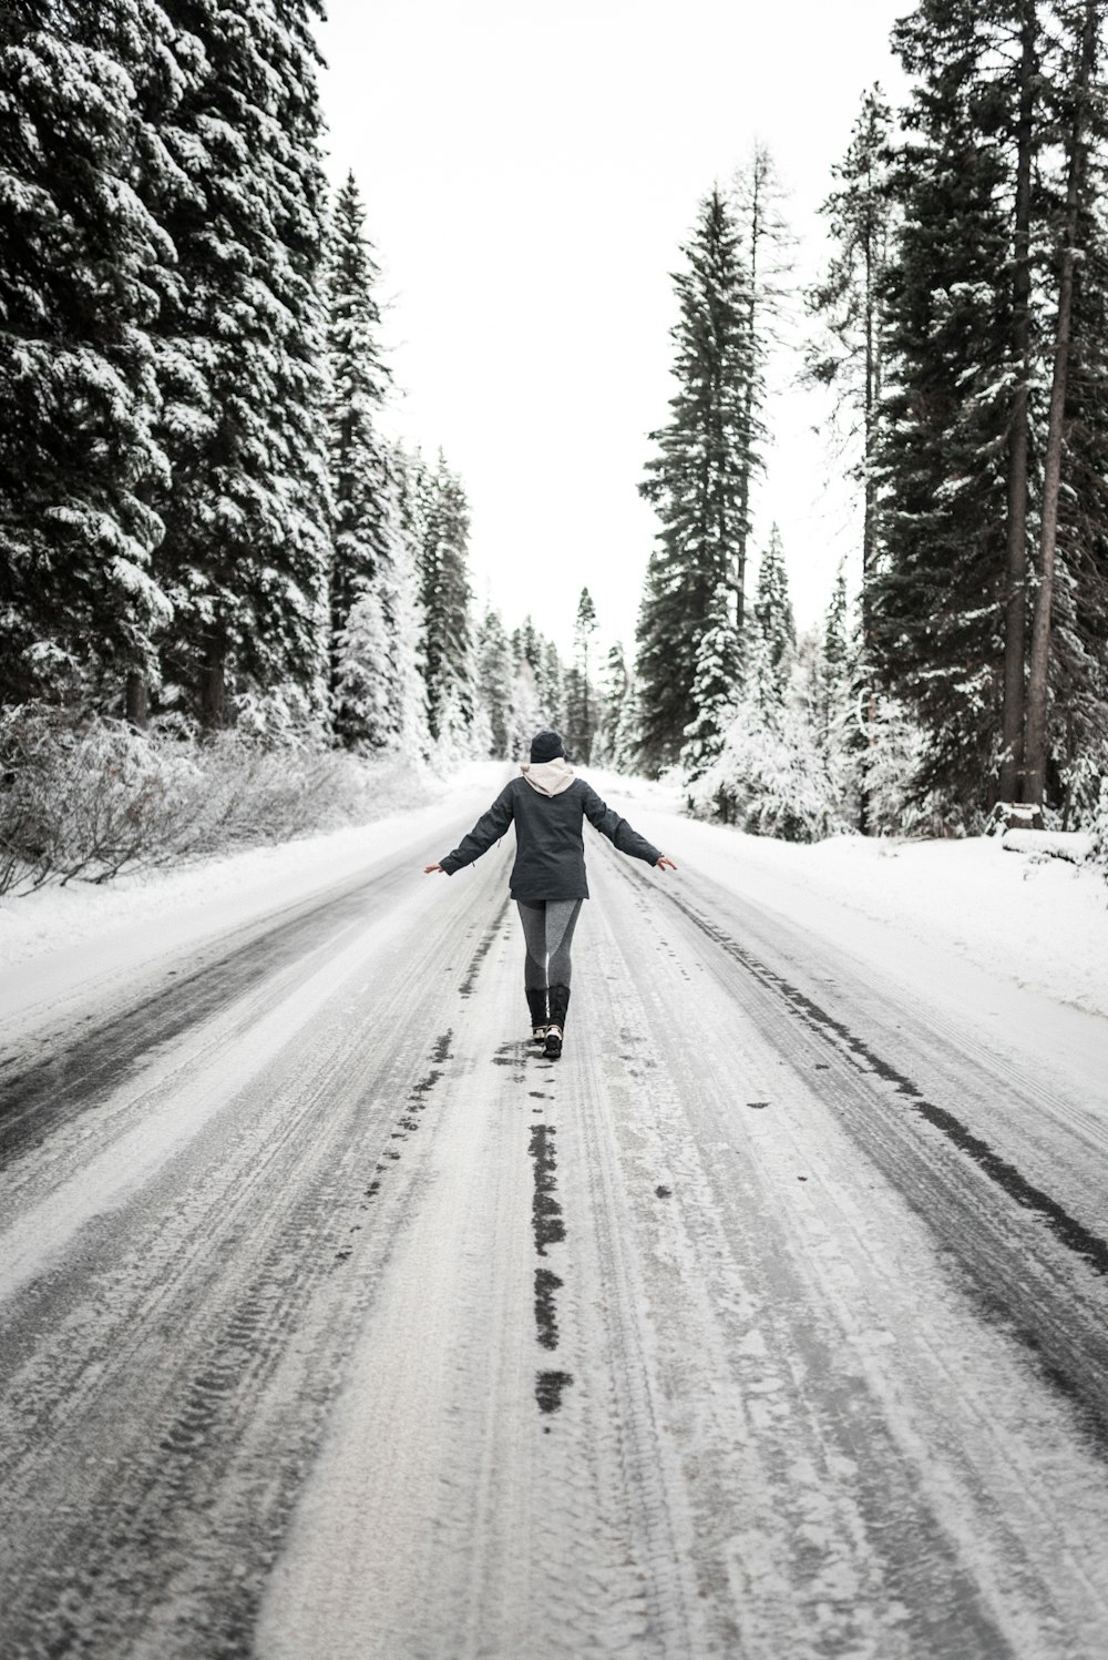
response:
M904 18L906 106L863 96L804 290L771 154L708 193L640 486L635 649L597 661L586 589L562 661L479 613L463 480L385 437L377 256L357 181L328 199L322 168L317 0L10 0L8 807L50 732L73 754L96 729L100 765L113 722L139 772L231 737L451 764L554 724L791 838L1108 813L1105 10ZM790 352L859 526L858 581L828 573L803 637L756 525ZM20 805L25 845L48 793Z

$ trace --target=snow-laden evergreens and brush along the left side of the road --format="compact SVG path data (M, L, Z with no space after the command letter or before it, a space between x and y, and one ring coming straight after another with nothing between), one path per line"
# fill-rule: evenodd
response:
M529 619L478 614L463 481L385 437L375 251L357 181L328 201L322 168L318 13L0 20L0 890L365 805L305 750L453 765L544 722L592 747L587 591L566 662Z

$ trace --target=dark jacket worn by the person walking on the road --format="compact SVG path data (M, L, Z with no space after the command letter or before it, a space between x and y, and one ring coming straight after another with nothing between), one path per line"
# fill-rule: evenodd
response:
M516 825L516 863L511 873L513 900L587 900L582 818L632 858L657 865L657 847L632 830L625 818L605 807L584 779L574 779L557 795L541 795L524 777L501 790L488 813L468 837L440 860L448 876L488 853L511 823Z

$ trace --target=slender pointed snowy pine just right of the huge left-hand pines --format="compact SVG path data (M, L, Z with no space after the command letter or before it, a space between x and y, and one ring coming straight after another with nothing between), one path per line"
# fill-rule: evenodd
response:
M386 742L388 682L380 596L372 596L398 556L396 501L378 415L391 375L383 360L377 304L378 267L365 236L365 208L353 173L340 188L327 241L327 415L333 496L330 561L330 701L345 744ZM352 613L360 611L357 626ZM370 649L378 649L370 657ZM357 649L353 662L348 661ZM373 677L380 689L373 692ZM357 686L357 691L355 691ZM350 696L353 694L353 701ZM367 715L375 710L370 724Z

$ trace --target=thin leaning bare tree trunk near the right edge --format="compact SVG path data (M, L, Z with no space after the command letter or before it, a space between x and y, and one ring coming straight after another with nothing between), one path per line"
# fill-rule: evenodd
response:
M1058 543L1058 496L1062 486L1062 450L1065 437L1065 397L1070 367L1070 320L1073 314L1073 271L1076 266L1076 232L1085 184L1085 148L1088 124L1088 90L1096 55L1098 0L1085 0L1081 58L1073 86L1073 121L1067 181L1062 271L1058 276L1058 320L1055 324L1055 362L1050 388L1050 423L1043 465L1043 506L1038 538L1038 591L1032 624L1032 662L1027 677L1027 802L1042 805L1047 787L1047 702L1050 691L1050 609L1053 604L1055 549Z

